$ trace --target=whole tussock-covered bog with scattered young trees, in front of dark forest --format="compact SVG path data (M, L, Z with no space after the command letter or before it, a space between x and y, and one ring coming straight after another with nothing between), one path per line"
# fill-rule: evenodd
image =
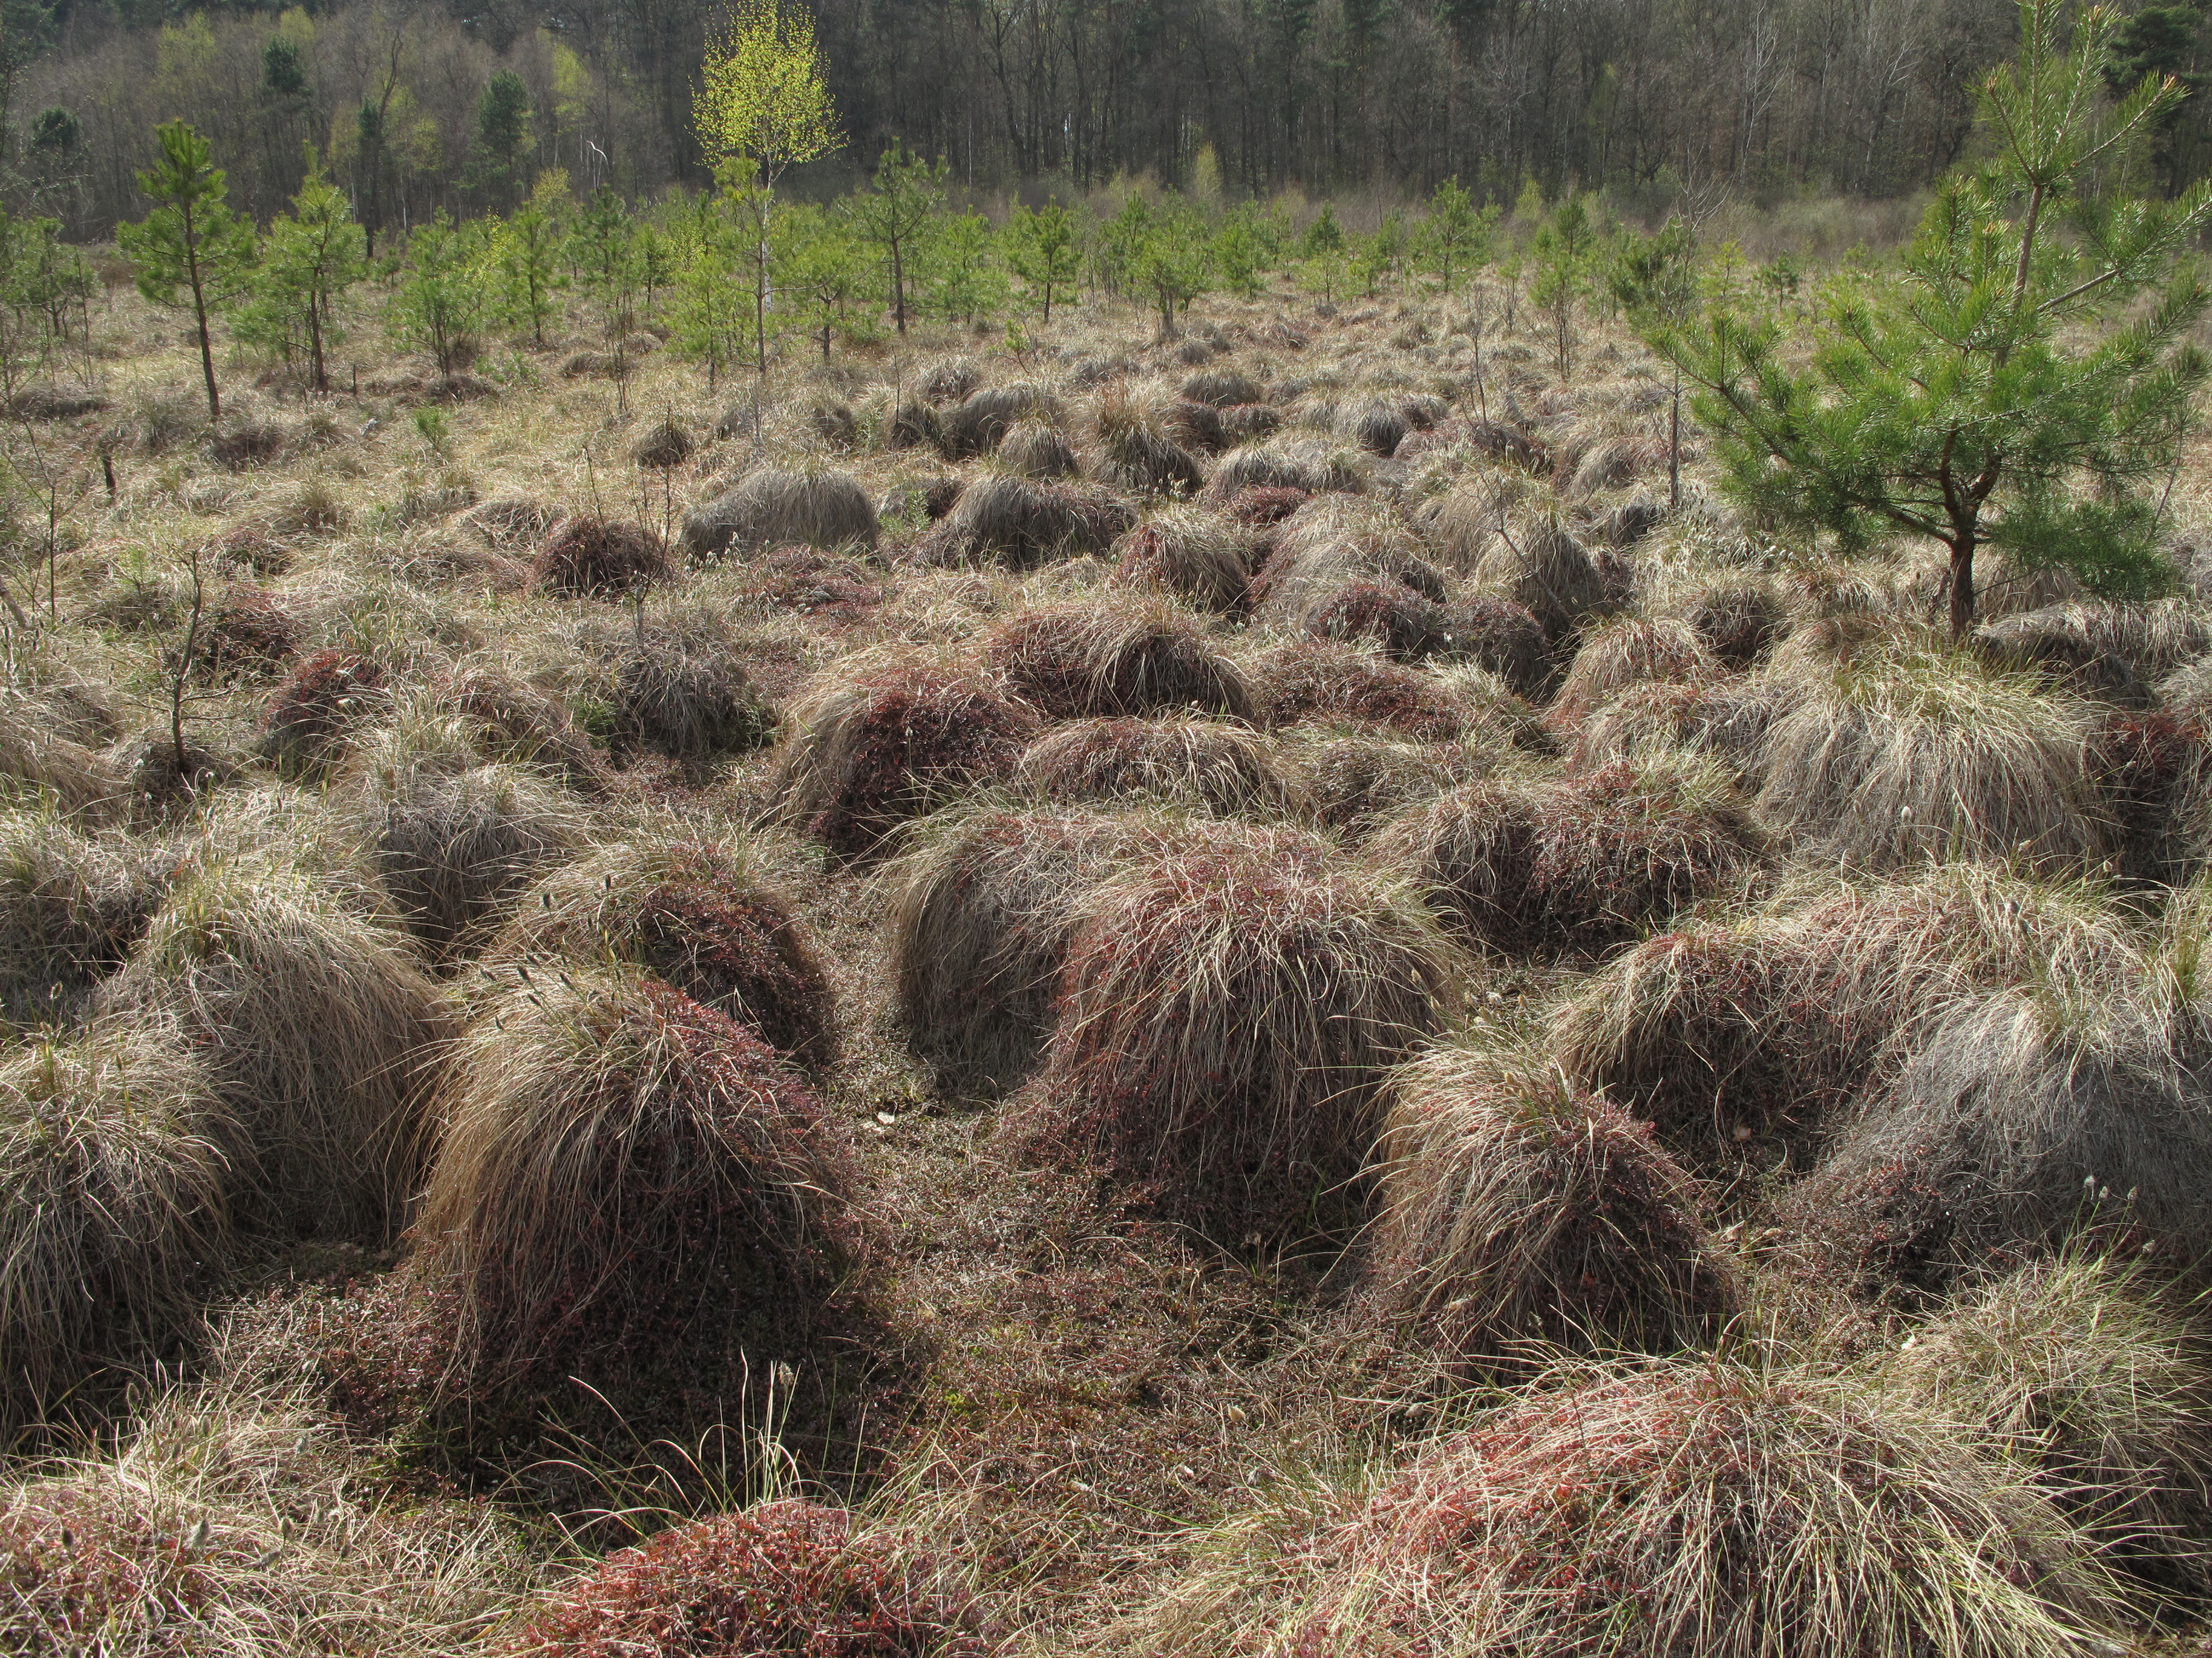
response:
M765 0L692 192L9 219L0 1651L2205 1651L2141 15L1849 256L803 192Z

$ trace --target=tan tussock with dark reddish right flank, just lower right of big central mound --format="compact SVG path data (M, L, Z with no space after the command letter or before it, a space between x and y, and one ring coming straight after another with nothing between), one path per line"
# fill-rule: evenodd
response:
M1369 1300L1462 1373L1526 1344L1672 1353L1736 1311L1697 1180L1537 1057L1416 1059L1378 1161Z

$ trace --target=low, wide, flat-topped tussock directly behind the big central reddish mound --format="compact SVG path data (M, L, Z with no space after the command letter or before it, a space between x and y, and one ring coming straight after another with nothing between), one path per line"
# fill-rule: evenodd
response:
M1221 818L1276 816L1292 787L1259 732L1203 718L1093 718L1022 754L1015 780L1042 800L1161 800Z

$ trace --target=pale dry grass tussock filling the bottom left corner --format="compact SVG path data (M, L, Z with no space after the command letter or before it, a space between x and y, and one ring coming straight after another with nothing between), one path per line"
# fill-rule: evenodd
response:
M394 1490L283 1393L175 1388L0 1488L11 1651L447 1658L540 1576L513 1519Z

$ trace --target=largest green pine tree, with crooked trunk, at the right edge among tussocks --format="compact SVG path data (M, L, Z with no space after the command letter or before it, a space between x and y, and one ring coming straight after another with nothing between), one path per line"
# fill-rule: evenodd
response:
M1732 305L1652 329L1703 387L1730 491L1845 546L1940 542L1953 637L1982 546L2112 595L2166 577L2157 486L2212 374L2194 343L2212 287L2174 270L2212 223L2212 183L2172 201L2115 188L2181 86L2143 80L2106 106L2115 18L2079 11L2070 40L2066 22L2024 0L2020 60L1984 97L1991 161L1942 183L1900 270L1829 285L1809 363L1774 316Z

